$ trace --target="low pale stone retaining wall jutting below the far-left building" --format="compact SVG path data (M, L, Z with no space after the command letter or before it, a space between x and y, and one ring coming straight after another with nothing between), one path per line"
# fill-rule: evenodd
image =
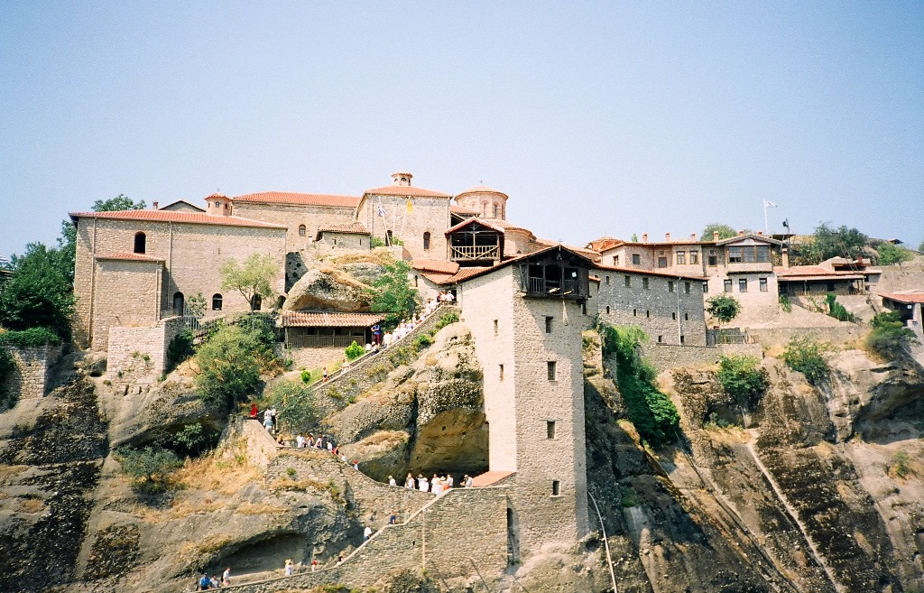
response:
M164 374L170 341L183 331L183 320L174 317L149 327L109 329L106 370L114 384L152 383Z

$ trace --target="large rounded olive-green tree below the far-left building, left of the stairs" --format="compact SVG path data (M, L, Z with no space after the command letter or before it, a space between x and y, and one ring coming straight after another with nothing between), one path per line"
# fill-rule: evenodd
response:
M260 375L276 362L272 335L229 325L219 329L196 353L196 388L207 402L233 407L255 393Z

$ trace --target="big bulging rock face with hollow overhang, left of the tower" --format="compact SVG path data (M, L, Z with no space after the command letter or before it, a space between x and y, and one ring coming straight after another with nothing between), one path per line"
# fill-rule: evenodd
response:
M372 478L477 475L488 466L481 370L468 328L451 323L407 366L326 422ZM387 356L385 351L384 355Z

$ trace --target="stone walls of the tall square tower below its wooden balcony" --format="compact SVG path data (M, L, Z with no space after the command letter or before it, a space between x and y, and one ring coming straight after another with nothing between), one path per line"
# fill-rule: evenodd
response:
M518 546L529 552L550 541L574 543L589 529L585 316L577 301L520 296L515 274L508 266L459 292L484 369L489 466L517 472L511 523Z

